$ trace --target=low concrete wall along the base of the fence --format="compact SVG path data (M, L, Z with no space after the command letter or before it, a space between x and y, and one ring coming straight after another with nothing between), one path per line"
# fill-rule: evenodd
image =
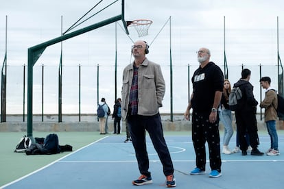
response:
M44 117L44 121L41 120L41 116L34 116L33 120L33 131L97 131L99 132L99 122L95 115L84 115L81 121L78 121L78 115L65 115L62 118L62 123L56 121L56 115L47 115ZM174 115L174 122L170 121L168 114L161 115L164 131L191 131L191 121L185 121L182 114ZM8 120L8 118L7 118ZM27 131L27 123L23 122L23 116L12 115L9 116L8 122L0 123L0 131L12 131L12 132L23 132ZM14 121L12 121L14 120ZM277 129L284 129L283 121L277 121ZM235 121L233 121L233 127L235 129ZM266 130L265 123L258 121L259 130ZM220 130L224 127L220 122ZM123 121L122 131L126 131L126 125ZM113 119L108 118L108 132L113 132Z

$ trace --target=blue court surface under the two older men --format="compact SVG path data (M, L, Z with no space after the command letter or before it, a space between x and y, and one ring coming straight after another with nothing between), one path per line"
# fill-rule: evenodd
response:
M106 136L3 188L165 188L163 167L148 136L153 184L132 185L132 180L137 179L140 173L132 143L123 143L124 139L125 136ZM206 174L189 175L195 168L190 135L165 136L165 140L174 162L176 188L284 188L283 135L279 135L279 149L283 149L283 153L278 156L222 154L222 177L219 178L209 178L208 152ZM259 149L267 151L270 147L268 134L260 136L260 141ZM231 149L234 144L233 137Z

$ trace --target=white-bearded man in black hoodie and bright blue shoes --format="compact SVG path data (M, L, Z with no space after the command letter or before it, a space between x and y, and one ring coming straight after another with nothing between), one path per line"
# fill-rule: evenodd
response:
M189 110L193 109L192 141L196 152L196 168L190 174L202 175L205 173L205 142L207 141L211 167L209 177L220 177L222 175L222 161L218 107L222 98L224 75L219 66L210 62L209 49L201 48L197 53L200 66L191 78L193 92L185 111L185 118L189 120Z

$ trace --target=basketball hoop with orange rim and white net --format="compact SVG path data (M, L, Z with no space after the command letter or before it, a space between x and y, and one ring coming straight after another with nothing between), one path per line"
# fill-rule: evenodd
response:
M127 26L133 26L137 33L139 38L143 36L148 35L148 29L150 25L152 25L153 21L146 20L146 19L139 19L139 20L134 20L134 21L128 21Z

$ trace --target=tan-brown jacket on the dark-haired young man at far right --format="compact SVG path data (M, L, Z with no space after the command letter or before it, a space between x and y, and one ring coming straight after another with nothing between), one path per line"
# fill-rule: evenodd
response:
M276 109L278 106L277 94L274 90L268 90L265 92L265 99L260 104L261 108L265 108L264 121L277 121L278 116ZM275 107L275 108L274 108Z

